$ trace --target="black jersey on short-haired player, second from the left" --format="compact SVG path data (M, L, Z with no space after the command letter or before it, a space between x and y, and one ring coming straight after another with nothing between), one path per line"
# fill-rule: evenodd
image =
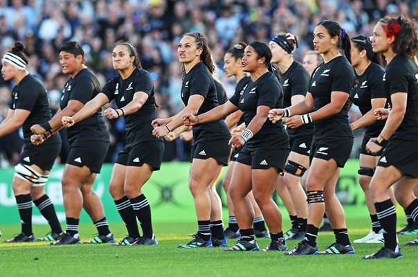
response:
M82 69L74 78L70 78L66 82L62 90L60 108L64 109L69 105L70 100L78 100L86 104L89 100L95 98L100 90L100 83L96 75L90 69ZM109 132L104 124L102 108L66 131L71 143L73 141L109 142Z

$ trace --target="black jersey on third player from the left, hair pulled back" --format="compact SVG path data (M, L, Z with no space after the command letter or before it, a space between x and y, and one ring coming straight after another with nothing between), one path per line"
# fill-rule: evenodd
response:
M118 108L129 104L138 91L147 93L148 99L134 114L125 116L126 146L128 147L142 141L162 141L152 135L151 123L156 118L156 106L151 75L144 69L135 69L125 80L116 76L104 84L102 89L102 93L109 98L109 101L115 100Z

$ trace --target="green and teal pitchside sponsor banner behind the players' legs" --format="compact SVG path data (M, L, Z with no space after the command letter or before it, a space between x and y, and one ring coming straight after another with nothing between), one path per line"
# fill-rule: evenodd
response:
M112 164L105 164L100 175L96 178L94 189L102 199L106 217L109 221L120 221L116 206L107 190L111 176ZM193 197L188 188L190 163L163 163L161 170L154 172L152 178L143 187L143 193L149 199L154 222L194 222ZM64 205L62 203L61 178L64 166L54 166L46 184L45 190L53 201L57 215L65 221ZM358 160L349 160L341 170L337 185L337 196L343 204L364 205L363 190L358 185ZM225 172L225 170L224 170ZM13 168L0 169L0 224L19 223L15 197L12 192ZM217 190L226 204L224 189L221 180L218 181ZM273 195L278 204L282 204L277 195ZM82 211L81 222L90 222L87 213ZM33 206L33 222L44 224L46 221Z

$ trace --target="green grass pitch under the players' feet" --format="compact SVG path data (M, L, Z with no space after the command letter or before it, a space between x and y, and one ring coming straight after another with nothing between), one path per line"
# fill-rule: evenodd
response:
M282 209L283 210L283 209ZM363 237L370 226L365 207L345 207L350 240ZM401 211L400 211L401 212ZM400 213L398 226L405 222ZM289 227L284 215L284 231ZM111 231L120 239L126 233L120 222L111 222ZM19 225L0 226L1 240L19 233ZM113 247L106 245L70 245L51 247L46 242L24 244L0 243L0 276L417 276L418 247L402 247L401 260L361 260L381 244L354 244L355 255L283 256L280 252L229 252L222 249L177 249L188 242L193 222L156 223L158 247ZM35 225L34 233L42 237L48 226ZM80 225L80 237L89 240L93 224ZM415 237L399 236L400 245ZM260 248L269 244L258 239ZM321 251L334 242L331 232L319 233ZM235 240L228 240L232 245ZM296 241L288 242L289 248ZM415 274L413 273L415 272Z

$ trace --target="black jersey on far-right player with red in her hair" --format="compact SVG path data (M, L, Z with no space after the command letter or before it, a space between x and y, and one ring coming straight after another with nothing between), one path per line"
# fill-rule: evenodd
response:
M383 75L383 89L390 95L408 93L405 116L392 138L418 141L418 66L414 60L394 56Z

